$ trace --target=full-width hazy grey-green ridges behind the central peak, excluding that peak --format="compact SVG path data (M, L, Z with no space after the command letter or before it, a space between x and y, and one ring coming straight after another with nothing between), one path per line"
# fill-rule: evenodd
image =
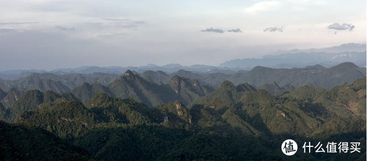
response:
M321 65L291 69L273 69L256 66L248 72L238 71L234 74L219 72L199 74L186 70L178 70L177 72L170 74L163 71L152 70L146 70L142 73L137 73L133 70L131 72L136 76L139 75L151 84L154 83L158 85L167 85L175 75L178 75L180 77L196 79L202 86L210 85L211 87L216 87L219 83L224 81L230 81L236 86L248 83L259 88L262 85L276 83L279 87L300 87L309 85L331 89L334 86L342 85L344 83L351 84L355 79L362 78L366 74L366 69L360 68L353 63L346 62L330 68L326 68ZM119 76L108 73L64 75L33 73L27 77L14 81L0 79L0 88L5 92L9 91L11 88L17 88L22 91L37 89L42 92L52 90L56 93L65 93L80 87L83 83L88 83L90 85L99 83L100 85L107 87L115 82L117 77L121 77L121 75ZM265 86L262 86L262 88L265 88Z

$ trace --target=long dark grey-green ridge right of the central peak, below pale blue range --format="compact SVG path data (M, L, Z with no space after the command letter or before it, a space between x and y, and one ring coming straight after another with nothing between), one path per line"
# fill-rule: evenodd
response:
M275 82L283 87L290 85L300 87L310 85L331 89L334 86L344 83L353 83L357 78L362 78L366 73L365 68L360 68L353 63L345 62L336 66L326 68L321 65L307 66L304 68L273 69L268 67L256 66L248 72L238 72L235 74L213 73L197 74L191 71L179 70L175 73L181 77L197 79L202 85L210 84L217 86L224 81L230 81L234 85L248 83L255 87ZM171 74L171 76L173 76ZM148 76L148 74L142 74ZM157 72L150 72L150 77L154 77L154 82L168 83L168 76L162 76Z

